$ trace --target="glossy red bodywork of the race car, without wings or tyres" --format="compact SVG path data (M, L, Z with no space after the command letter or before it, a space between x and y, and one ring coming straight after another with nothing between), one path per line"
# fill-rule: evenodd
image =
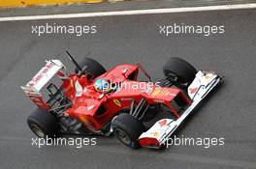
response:
M139 70L144 71L140 64L119 65L93 80L88 80L86 74L80 77L76 74L70 74L70 78L64 80L61 86L61 88L66 91L65 96L72 100L72 107L66 110L66 115L78 119L86 127L98 131L105 124L110 122L121 110L129 109L132 100L134 100L135 103L139 103L140 100L144 98L149 104L159 102L166 104L178 118L179 115L170 102L175 99L176 96L179 96L184 99L187 104L190 104L190 100L187 99L179 89L158 87L151 83L150 89L147 91L143 91L141 88L131 89L127 86L122 86L115 92L102 94L97 92L93 87L94 81L99 78L107 79L115 84L144 85L145 82L137 81ZM77 80L82 87L80 97L76 96L75 83ZM147 82L146 84L149 83Z

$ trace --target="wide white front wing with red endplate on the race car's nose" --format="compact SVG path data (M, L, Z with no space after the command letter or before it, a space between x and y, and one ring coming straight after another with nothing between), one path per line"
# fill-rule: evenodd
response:
M149 148L160 148L164 145L175 132L176 128L185 120L192 110L205 99L208 93L221 79L222 77L213 71L198 71L195 79L188 87L188 96L192 100L192 103L177 120L161 119L157 121L139 137L140 145Z

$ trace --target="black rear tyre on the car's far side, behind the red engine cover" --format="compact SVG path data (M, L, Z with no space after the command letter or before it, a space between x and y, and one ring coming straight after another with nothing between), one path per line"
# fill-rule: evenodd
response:
M84 58L84 60L80 63L80 67L87 67L85 71L90 73L92 78L95 78L106 72L105 68L100 63L91 58ZM78 73L79 70L76 68L75 72Z

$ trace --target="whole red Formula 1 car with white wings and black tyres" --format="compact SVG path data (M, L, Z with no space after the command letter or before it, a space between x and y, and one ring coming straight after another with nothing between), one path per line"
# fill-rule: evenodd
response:
M47 61L25 86L39 107L27 119L39 137L61 132L115 135L131 148L161 148L176 128L220 82L213 71L170 58L165 77L152 82L140 64L110 70L93 59L67 74L59 60ZM138 80L142 71L147 80Z

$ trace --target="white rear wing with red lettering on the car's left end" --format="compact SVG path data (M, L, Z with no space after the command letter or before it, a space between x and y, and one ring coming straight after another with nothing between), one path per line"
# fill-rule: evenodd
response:
M59 60L49 60L46 62L46 66L39 70L25 86L20 86L26 96L32 99L40 108L44 109L48 109L49 105L43 100L40 91L56 73L62 73L60 70L65 69Z

